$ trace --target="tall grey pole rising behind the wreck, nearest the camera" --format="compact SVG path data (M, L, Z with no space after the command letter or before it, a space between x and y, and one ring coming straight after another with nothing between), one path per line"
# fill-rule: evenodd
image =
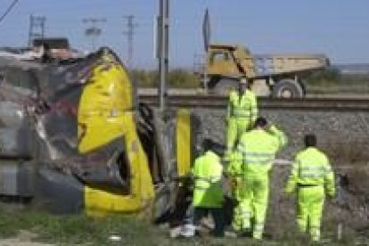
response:
M168 75L168 48L169 48L169 0L160 0L158 18L158 58L159 58L159 104L164 111L167 97L166 80Z

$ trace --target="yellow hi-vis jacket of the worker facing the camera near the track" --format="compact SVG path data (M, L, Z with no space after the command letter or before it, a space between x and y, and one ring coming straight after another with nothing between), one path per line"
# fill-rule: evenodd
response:
M258 116L257 99L254 93L246 89L240 96L237 91L231 91L227 107L227 118L250 120L253 124Z

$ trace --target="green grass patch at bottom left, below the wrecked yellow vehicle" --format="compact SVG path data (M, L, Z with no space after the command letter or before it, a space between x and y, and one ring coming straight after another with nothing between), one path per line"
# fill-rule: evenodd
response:
M60 245L114 245L109 240L111 235L121 237L117 245L154 245L145 242L154 242L160 232L159 228L142 220L123 215L93 218L85 215L55 216L40 211L0 211L1 238L17 236L21 230L36 234L33 239L36 242Z

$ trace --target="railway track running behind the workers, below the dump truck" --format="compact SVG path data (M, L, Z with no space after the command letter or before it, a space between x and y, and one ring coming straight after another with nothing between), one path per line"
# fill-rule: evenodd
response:
M158 106L157 95L139 95L140 102ZM227 97L224 95L169 95L170 107L225 109ZM364 98L304 98L277 99L258 98L258 107L266 110L291 111L369 111L369 99Z

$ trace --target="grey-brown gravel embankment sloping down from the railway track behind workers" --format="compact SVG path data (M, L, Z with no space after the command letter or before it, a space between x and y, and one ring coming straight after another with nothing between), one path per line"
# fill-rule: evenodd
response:
M217 143L225 143L225 110L193 112L201 121L199 138L210 137ZM294 154L303 148L303 135L307 133L315 133L318 145L330 156L338 193L336 199L325 204L323 232L341 232L355 240L369 237L369 113L261 109L259 114L288 135L289 143L278 159L293 160ZM266 234L273 238L288 236L296 230L294 200L283 194L290 168L275 165L271 173Z

